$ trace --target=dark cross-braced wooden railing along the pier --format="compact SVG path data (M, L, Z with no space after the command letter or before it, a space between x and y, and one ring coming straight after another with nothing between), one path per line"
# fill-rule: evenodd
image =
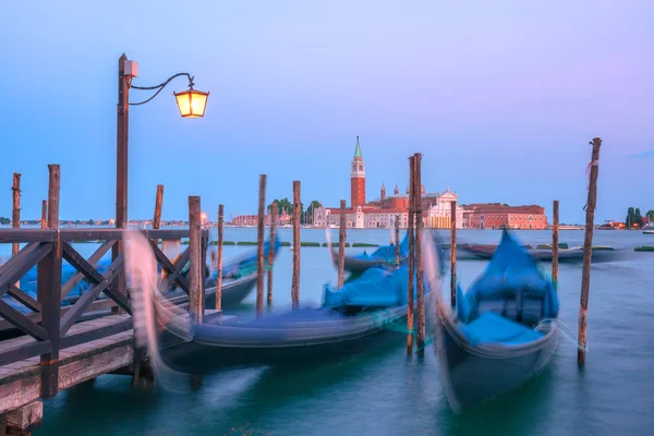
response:
M159 290L167 292L172 283L190 292L189 280L182 269L190 261L191 245L170 259L155 241L181 240L190 238L189 229L141 230L149 240L157 263L164 274L158 281ZM208 237L202 230L201 242ZM120 292L114 283L123 274L123 255L116 257L100 272L96 264L111 247L122 239L120 229L0 229L0 243L25 244L23 249L4 265L0 266L0 296L8 293L27 311L21 312L0 299L0 326L4 329L13 326L33 338L15 347L0 347L0 366L25 359L40 356L41 387L40 397L49 398L58 391L59 351L93 340L119 334L132 328L132 318L100 328L73 331L71 328L84 314L94 311L120 307L131 314L129 295ZM100 246L86 259L73 246L75 242L99 242ZM206 253L202 259L206 259ZM61 282L62 261L76 269L65 283ZM206 264L206 262L205 262ZM32 268L37 268L36 300L16 287L16 282ZM62 301L82 281L89 282L88 289L70 306ZM202 280L204 283L204 280ZM202 286L204 294L204 286ZM107 298L101 298L104 293ZM1 343L1 342L0 342Z

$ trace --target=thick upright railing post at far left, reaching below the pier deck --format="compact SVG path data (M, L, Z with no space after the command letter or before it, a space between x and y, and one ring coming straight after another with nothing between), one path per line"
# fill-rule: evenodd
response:
M59 165L48 165L48 229L59 228ZM61 318L61 240L59 234L52 251L37 265L37 300L41 303L41 326L50 334L52 349L41 354L41 398L55 397L59 390L59 338Z

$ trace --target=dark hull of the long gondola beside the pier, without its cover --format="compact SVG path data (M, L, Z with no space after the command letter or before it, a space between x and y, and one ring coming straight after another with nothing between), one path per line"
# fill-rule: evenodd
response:
M388 310L386 316L384 319L401 323L407 310ZM161 355L177 371L207 374L234 366L287 366L342 359L387 343L388 337L403 335L374 314L352 319L300 319L274 328L237 323L202 325L195 327L191 341L162 350Z

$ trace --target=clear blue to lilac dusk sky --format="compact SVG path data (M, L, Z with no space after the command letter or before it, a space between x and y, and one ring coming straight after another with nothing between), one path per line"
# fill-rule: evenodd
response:
M589 142L603 141L595 222L654 209L654 2L172 1L0 2L0 216L22 173L22 218L40 216L61 165L62 219L108 219L116 204L118 59L134 84L178 72L210 93L182 119L177 78L130 110L129 217L214 220L292 197L350 197L360 136L367 198L409 181L460 203L537 204L584 221ZM152 93L132 89L131 101ZM2 182L4 181L4 182Z

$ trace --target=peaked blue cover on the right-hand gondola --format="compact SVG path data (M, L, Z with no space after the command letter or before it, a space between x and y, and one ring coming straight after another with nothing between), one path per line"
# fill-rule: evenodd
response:
M465 294L461 288L457 289L457 315L465 324L474 323L487 312L537 324L540 319L557 317L558 308L552 279L506 230L485 271ZM493 319L486 318L484 323Z

